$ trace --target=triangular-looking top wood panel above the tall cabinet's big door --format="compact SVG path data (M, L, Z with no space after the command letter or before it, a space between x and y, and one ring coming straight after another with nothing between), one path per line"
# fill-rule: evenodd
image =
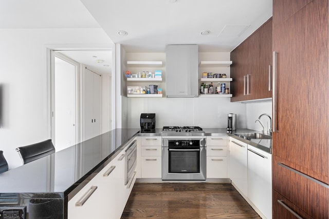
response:
M312 1L313 0L273 0L273 15L275 15L273 26L281 24Z

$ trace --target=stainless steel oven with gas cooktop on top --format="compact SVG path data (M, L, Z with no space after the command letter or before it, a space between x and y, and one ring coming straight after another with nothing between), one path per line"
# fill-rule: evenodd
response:
M206 180L206 136L200 127L163 127L162 180Z

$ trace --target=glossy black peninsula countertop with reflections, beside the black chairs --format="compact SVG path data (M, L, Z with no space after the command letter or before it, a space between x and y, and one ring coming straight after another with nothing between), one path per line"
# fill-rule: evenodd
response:
M41 198L64 198L70 192L76 193L72 191L80 190L139 131L115 129L0 174L0 205L10 193L20 198L41 193Z

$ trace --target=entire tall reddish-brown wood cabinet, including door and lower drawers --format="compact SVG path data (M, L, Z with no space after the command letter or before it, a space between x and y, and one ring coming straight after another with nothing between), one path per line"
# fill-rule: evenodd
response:
M328 0L273 0L273 218L328 218Z

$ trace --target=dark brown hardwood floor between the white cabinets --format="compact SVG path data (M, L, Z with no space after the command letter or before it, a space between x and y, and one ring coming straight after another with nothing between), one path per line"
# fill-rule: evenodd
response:
M121 218L261 218L231 184L135 184Z

